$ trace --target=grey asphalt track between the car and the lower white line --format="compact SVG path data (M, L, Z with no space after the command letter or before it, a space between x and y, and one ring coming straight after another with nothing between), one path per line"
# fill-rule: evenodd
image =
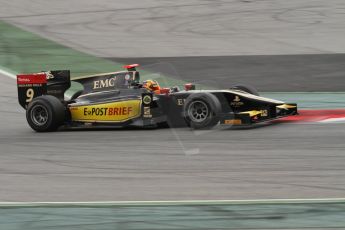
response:
M343 197L344 124L39 134L1 76L0 200Z

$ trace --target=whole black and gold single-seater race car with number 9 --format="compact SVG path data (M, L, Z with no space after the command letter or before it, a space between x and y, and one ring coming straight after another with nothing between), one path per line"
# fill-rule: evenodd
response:
M17 75L18 98L26 119L37 132L59 127L243 126L297 115L297 104L259 96L248 86L198 90L194 84L162 88L155 80L140 81L138 64L125 71L70 79L69 70ZM82 89L70 98L71 82Z

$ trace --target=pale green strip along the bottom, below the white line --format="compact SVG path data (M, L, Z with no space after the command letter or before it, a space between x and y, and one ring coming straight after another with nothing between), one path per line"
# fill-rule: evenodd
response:
M343 199L0 206L1 229L344 229Z

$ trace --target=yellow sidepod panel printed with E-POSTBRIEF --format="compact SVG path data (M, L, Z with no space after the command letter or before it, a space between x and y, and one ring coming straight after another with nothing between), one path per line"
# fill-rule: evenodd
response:
M124 122L141 115L141 100L117 101L69 107L72 121Z

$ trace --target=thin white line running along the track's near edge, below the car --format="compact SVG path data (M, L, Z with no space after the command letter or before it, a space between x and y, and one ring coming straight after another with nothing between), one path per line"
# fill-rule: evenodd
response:
M241 204L310 204L345 203L345 198L320 199L260 199L260 200L183 200L183 201L94 201L94 202L0 202L8 206L150 206L150 205L241 205Z

